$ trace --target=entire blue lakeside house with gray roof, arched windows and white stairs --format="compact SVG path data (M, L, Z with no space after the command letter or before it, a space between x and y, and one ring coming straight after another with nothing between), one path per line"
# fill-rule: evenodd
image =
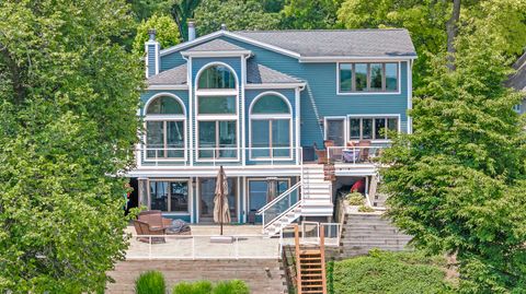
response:
M331 221L352 187L381 209L374 158L392 132L411 132L408 31L222 28L163 49L151 32L146 51L145 131L129 172L140 203L213 222L222 165L232 223L270 235Z

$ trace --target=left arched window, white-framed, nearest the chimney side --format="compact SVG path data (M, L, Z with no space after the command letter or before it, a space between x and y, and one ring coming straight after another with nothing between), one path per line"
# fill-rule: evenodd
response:
M184 158L184 108L172 96L160 96L146 109L146 158Z

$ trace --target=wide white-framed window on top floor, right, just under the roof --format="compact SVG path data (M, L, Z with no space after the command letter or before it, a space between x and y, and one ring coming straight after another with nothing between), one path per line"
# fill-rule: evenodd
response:
M340 63L340 93L397 92L398 63Z

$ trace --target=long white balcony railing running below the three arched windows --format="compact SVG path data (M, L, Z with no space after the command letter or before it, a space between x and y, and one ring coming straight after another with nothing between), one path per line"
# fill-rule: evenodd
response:
M210 164L213 166L224 163L241 163L244 153L245 162L281 165L299 164L302 156L302 148L150 148L139 145L136 149L137 165L190 165L190 154L193 152L195 163Z

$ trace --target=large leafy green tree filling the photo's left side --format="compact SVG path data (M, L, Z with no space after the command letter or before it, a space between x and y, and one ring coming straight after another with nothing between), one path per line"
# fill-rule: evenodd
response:
M0 292L91 293L127 247L144 70L124 0L0 2Z

